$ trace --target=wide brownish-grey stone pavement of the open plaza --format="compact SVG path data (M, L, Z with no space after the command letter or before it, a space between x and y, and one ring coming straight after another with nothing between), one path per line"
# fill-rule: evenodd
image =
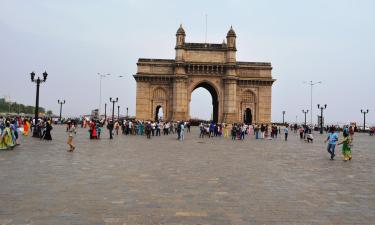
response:
M323 138L22 138L0 152L0 224L375 224L375 138L330 161Z

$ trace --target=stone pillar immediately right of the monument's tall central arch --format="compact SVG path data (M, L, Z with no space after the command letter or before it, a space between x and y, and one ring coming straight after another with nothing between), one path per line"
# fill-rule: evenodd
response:
M226 77L224 80L224 122L234 123L237 121L237 79Z

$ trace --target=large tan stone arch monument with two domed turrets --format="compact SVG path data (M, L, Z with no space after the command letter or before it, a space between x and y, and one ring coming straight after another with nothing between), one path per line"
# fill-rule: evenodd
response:
M236 59L236 33L231 27L222 44L185 42L182 25L176 33L175 59L137 63L136 118L188 121L191 93L199 87L212 96L214 122L270 123L272 66Z

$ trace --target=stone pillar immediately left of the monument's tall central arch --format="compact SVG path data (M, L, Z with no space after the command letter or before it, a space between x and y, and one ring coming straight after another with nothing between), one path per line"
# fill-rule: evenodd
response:
M187 79L176 78L173 82L173 117L174 121L188 119Z

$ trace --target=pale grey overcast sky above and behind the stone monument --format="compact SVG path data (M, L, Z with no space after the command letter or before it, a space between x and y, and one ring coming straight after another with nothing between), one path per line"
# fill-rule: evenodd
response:
M102 96L119 97L135 113L138 58L175 55L180 23L187 42L221 43L231 25L237 33L237 60L271 62L277 81L272 120L303 121L310 109L310 87L317 103L327 104L326 121L362 121L369 109L375 122L375 1L114 1L0 0L0 96L35 104L31 71L49 74L40 104L64 115L90 113ZM118 76L124 76L119 78ZM210 117L211 97L197 89L191 114ZM204 110L206 109L206 110Z

